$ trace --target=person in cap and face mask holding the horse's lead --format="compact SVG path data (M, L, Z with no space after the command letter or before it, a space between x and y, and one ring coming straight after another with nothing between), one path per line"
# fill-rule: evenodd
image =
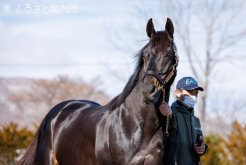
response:
M171 108L167 103L160 106L161 113L176 123L167 139L165 165L201 164L200 156L206 152L207 145L203 141L200 120L194 116L199 91L203 91L203 88L198 86L194 78L183 77L176 85L177 100Z

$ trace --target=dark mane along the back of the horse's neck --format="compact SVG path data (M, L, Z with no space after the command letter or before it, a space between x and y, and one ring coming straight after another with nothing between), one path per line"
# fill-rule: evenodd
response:
M139 74L140 71L143 67L143 51L149 46L149 43L147 43L142 49L139 50L139 52L135 55L136 61L137 61L137 65L135 67L135 70L133 72L133 74L131 75L131 77L129 78L126 86L124 87L123 91L117 95L115 98L113 98L106 106L108 107L108 109L115 109L116 107L118 107L120 104L122 104L126 97L131 93L131 91L133 90L133 88L135 87L135 85L138 82L139 79Z

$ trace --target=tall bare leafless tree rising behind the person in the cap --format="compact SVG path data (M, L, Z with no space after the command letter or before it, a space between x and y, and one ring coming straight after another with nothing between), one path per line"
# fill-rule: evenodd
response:
M232 51L246 36L246 26L241 24L244 19L244 1L156 0L141 1L134 7L137 14L142 16L140 19L147 20L151 15L156 16L159 13L162 17L167 15L174 21L176 41L179 41L193 75L204 87L199 100L200 117L203 122L210 80L215 67L220 62L231 60L232 57L240 58ZM126 42L129 43L129 39ZM120 45L125 45L126 42L114 42L114 45L118 43L119 49Z

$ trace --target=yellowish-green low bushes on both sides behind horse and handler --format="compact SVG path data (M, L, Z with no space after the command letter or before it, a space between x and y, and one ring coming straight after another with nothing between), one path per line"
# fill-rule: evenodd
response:
M37 126L35 126L37 128ZM9 123L0 127L0 165L15 164L31 143L36 130ZM209 148L202 157L203 165L245 165L246 124L234 121L226 136L215 133L205 136Z

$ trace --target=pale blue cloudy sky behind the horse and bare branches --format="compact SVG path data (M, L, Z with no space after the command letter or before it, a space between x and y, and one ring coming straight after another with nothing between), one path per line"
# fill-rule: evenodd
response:
M57 5L53 6L54 10L51 10L52 5ZM133 72L134 54L148 39L145 26L149 18L146 16L145 22L134 21L139 18L139 13L134 13L134 5L134 1L126 0L0 1L0 76L54 78L68 75L89 82L99 78L100 89L111 97L117 95ZM151 17L156 29L163 30L167 16ZM136 44L129 49L132 52L113 49L109 42L112 37L109 35L114 34L111 31L122 26L133 28L135 23L142 29L134 36ZM243 25L245 27L245 21L239 26ZM198 44L194 46L199 47ZM177 40L176 45L179 48ZM241 42L235 50L240 60L217 66L220 72L213 74L211 88L217 93L214 99L222 92L228 98L246 96L245 46L245 41ZM182 50L178 53L176 81L191 75ZM118 75L113 75L112 71Z

